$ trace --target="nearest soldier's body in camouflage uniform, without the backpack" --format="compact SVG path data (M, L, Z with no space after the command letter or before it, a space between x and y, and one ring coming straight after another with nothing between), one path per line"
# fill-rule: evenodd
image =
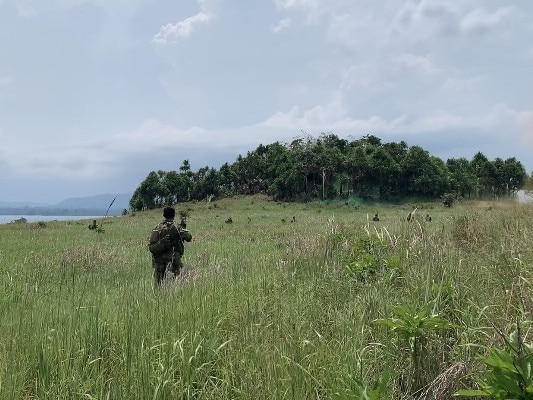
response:
M154 268L154 282L156 286L160 286L165 279L167 270L172 271L175 276L178 276L180 269L183 268L181 257L183 256L185 246L183 241L190 242L192 240L191 232L189 232L183 225L174 224L174 217L176 211L172 207L165 207L163 209L163 221L159 223L155 230L160 230L164 225L169 228L171 247L160 255L152 254L152 266Z

